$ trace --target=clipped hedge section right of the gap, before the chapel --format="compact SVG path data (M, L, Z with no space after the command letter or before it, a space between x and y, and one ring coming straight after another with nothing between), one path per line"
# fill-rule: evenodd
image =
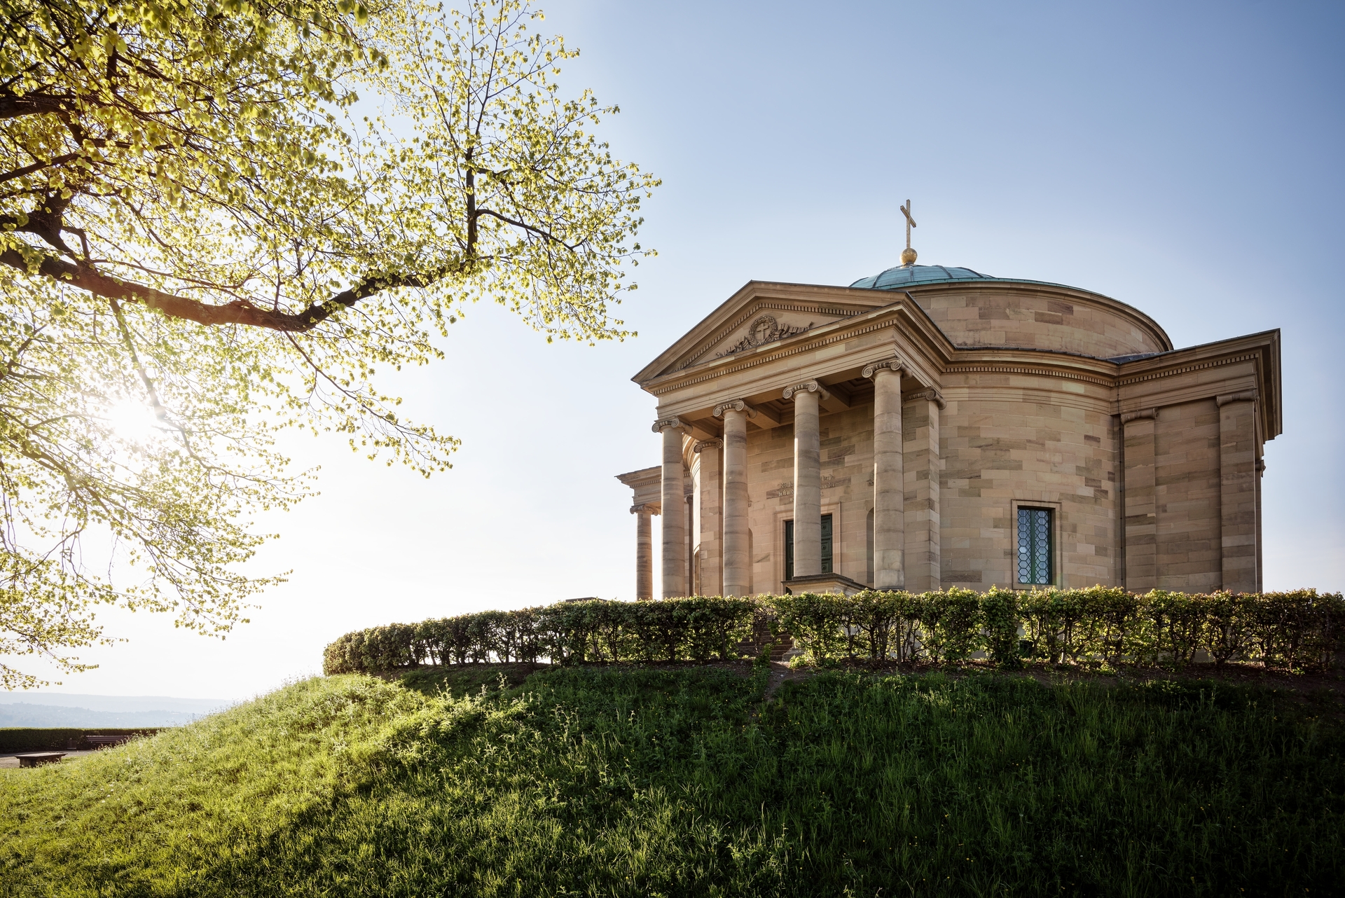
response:
M920 596L777 596L771 605L780 629L814 661L958 661L985 652L1001 667L1024 659L1166 668L1209 660L1323 669L1345 628L1345 601L1317 590L1138 596L1106 586L954 587Z

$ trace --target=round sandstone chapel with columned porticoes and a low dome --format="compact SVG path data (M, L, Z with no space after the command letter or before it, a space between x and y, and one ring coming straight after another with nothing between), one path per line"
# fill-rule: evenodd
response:
M908 250L909 251L909 250ZM662 465L620 475L650 598L1262 585L1279 331L1173 348L1059 284L915 265L751 281L635 375Z

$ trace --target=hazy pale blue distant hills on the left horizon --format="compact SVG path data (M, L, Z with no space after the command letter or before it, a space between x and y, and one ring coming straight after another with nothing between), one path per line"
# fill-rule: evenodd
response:
M182 726L231 704L234 703L227 699L179 699L167 695L0 692L0 727Z

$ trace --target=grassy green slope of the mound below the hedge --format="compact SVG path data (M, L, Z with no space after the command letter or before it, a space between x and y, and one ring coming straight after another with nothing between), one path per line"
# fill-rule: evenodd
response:
M761 671L417 686L449 692L309 680L0 772L4 894L1303 895L1345 882L1345 734L1266 691L820 674L763 711Z

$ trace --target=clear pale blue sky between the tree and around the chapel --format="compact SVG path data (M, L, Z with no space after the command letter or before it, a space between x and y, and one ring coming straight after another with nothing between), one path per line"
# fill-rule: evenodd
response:
M429 483L304 440L323 495L264 524L292 569L227 641L145 616L70 692L241 698L340 633L573 596L629 598L613 475L658 461L629 378L752 278L850 284L921 262L1072 284L1177 345L1283 331L1266 586L1345 587L1345 5L555 3L564 82L621 106L613 152L663 177L623 307L636 340L546 345L482 308L399 389L463 440Z

